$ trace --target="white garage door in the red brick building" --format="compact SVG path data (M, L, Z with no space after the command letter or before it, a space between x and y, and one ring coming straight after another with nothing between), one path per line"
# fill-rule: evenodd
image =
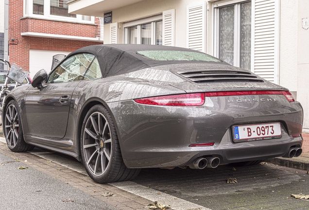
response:
M47 73L51 71L52 56L56 54L68 55L69 53L66 51L30 50L29 71L31 79L41 69L45 69Z

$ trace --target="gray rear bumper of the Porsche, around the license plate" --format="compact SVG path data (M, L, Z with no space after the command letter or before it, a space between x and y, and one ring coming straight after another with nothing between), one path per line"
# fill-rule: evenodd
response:
M250 97L258 98L246 96ZM176 167L186 166L199 156L220 157L224 164L282 157L291 146L301 147L302 138L292 138L302 131L301 106L289 103L283 95L266 97L276 97L278 101L251 100L240 104L228 103L230 97L206 97L204 105L191 107L141 105L133 100L107 105L128 168ZM281 123L280 139L232 139L233 125L269 122ZM204 142L214 145L189 147Z

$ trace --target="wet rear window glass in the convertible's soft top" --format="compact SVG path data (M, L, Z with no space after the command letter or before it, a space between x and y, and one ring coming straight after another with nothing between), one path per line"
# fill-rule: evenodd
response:
M188 51L137 51L144 57L157 61L207 61L222 62L218 58L212 57L205 53L188 52Z

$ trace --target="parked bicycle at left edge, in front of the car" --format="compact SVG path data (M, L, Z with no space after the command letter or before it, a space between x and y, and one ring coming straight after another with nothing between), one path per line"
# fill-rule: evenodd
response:
M4 65L9 65L10 70L7 74L4 74L5 76L5 81L4 84L0 90L0 112L2 113L3 107L4 107L4 101L5 97L9 94L11 91L9 80L12 79L15 81L15 87L21 85L21 83L24 81L24 79L29 75L29 71L23 69L22 67L18 66L17 64L10 64L9 61L0 58L0 62L3 63ZM0 123L0 126L2 123Z

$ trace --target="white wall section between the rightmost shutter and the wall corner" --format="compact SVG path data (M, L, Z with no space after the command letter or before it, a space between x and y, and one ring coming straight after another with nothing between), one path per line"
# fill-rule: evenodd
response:
M297 0L280 0L279 85L297 91Z

